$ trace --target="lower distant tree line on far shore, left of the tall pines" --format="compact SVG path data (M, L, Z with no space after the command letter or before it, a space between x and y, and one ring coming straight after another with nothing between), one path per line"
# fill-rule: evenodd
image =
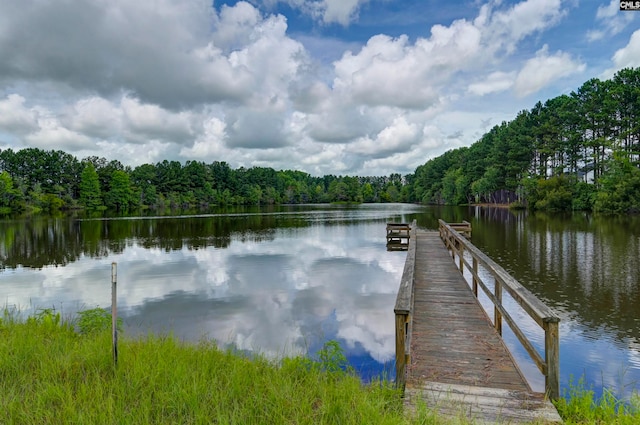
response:
M59 150L0 151L0 213L86 209L121 213L224 205L406 201L405 178L326 175L226 162L164 160L135 168L118 160L78 160Z

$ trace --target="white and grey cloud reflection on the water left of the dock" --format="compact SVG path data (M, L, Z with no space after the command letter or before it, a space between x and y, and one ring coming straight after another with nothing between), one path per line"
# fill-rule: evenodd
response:
M394 356L393 304L404 258L386 251L383 223L313 225L278 229L269 240L232 238L224 249L166 251L134 241L109 258L18 268L11 280L24 282L0 290L9 289L1 295L8 305L23 308L59 306L72 314L108 307L115 261L129 335L171 331L275 357L339 339L348 355L364 351L385 363Z

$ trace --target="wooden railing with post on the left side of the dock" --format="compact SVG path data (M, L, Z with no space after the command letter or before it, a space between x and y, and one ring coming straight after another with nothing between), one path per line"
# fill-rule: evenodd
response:
M413 220L409 226L409 246L407 248L407 260L404 263L404 271L396 305L393 309L396 316L396 387L404 389L409 364L409 352L411 349L411 314L413 312L413 284L415 282L416 259L416 228L417 222Z

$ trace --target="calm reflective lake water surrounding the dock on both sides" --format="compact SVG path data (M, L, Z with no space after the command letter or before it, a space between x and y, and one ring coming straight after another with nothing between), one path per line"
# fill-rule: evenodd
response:
M0 302L65 315L108 307L118 264L125 332L213 338L267 356L335 339L364 379L393 377L405 252L385 224L469 220L472 242L561 317L561 385L629 395L640 380L640 220L415 205L295 206L189 217L0 221ZM508 302L508 301L507 301ZM518 314L515 314L518 316ZM543 335L523 320L540 346ZM535 366L505 331L534 389Z

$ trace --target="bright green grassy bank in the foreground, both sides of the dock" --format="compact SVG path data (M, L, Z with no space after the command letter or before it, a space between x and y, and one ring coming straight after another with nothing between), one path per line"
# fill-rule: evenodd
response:
M107 326L107 330L105 330ZM272 361L171 336L121 338L113 364L110 319L63 321L44 311L0 321L1 424L446 424L426 409L402 413L389 382L363 385L340 347L318 360ZM638 406L577 385L558 404L567 423L640 423Z

